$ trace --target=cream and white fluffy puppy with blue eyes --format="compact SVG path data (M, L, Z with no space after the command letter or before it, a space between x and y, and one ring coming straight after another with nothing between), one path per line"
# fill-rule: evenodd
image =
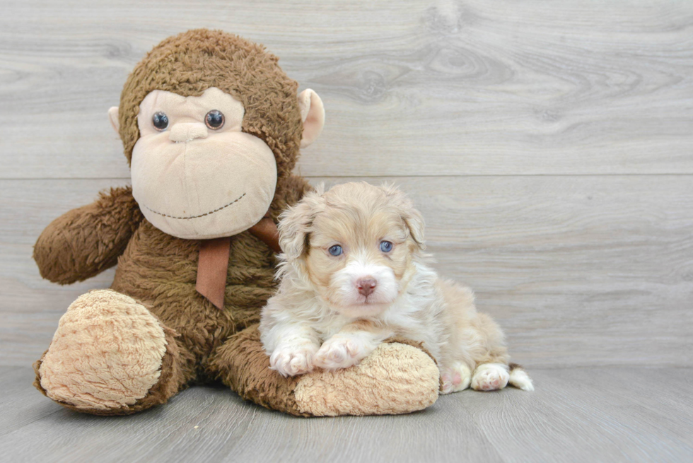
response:
M441 392L527 391L503 332L470 288L438 278L424 220L402 192L367 183L308 193L279 222L279 290L262 311L270 368L284 376L356 365L390 336L423 344Z

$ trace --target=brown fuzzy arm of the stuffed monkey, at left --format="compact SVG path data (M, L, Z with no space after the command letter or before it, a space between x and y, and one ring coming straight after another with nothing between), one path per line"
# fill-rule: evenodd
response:
M92 204L64 213L34 245L41 276L69 284L114 266L142 218L132 187L101 192Z

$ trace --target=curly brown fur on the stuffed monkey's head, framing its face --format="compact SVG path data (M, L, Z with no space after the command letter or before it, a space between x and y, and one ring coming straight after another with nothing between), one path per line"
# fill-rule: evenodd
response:
M120 137L128 163L139 139L139 103L149 92L200 96L216 87L243 103L243 131L272 148L278 177L288 177L301 146L301 110L298 84L278 61L262 45L216 30L189 30L163 40L134 67L120 97Z

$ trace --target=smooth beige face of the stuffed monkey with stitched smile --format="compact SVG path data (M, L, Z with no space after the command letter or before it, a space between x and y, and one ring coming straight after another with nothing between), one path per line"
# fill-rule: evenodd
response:
M216 108L224 124L204 122ZM152 124L167 118L165 129ZM276 160L264 141L242 131L243 105L212 87L183 97L154 90L139 105L132 150L132 194L146 219L169 235L201 240L248 230L274 199Z

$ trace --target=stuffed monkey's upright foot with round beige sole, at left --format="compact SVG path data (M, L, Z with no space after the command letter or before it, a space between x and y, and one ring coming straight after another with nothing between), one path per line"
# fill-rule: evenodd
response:
M68 308L35 363L34 385L55 402L93 414L129 414L162 400L173 332L127 295L91 291ZM164 375L168 381L170 375ZM155 387L159 386L159 387ZM166 387L163 387L166 389ZM170 387L168 387L170 389Z

